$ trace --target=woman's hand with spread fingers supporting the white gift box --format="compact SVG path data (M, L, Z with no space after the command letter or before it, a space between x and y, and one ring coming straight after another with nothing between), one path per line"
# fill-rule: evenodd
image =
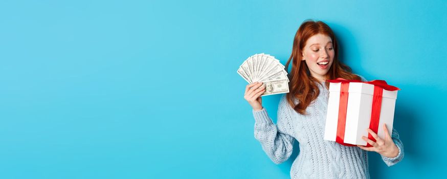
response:
M391 139L386 124L384 124L385 139L379 138L377 134L369 128L366 130L371 134L376 142L368 139L368 137L362 136L362 139L372 145L372 147L357 145L358 147L367 151L375 151L386 156L387 158L395 158L399 154L399 148L397 148L396 144L394 144L393 140Z

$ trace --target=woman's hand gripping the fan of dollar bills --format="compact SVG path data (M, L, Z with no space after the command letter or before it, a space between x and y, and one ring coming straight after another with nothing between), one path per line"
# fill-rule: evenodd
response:
M262 98L260 96L265 92L265 86L262 84L262 82L254 82L245 87L243 98L249 102L254 110L262 110Z

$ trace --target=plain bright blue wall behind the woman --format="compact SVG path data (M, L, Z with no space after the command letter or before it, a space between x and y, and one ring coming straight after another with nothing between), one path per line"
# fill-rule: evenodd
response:
M405 147L373 178L443 176L445 1L1 1L1 178L288 178L254 138L239 65L285 64L303 20L400 87ZM263 98L276 122L279 95Z

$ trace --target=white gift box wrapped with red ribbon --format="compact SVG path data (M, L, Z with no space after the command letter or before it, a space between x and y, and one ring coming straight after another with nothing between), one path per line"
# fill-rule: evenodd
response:
M362 136L368 137L367 128L371 128L380 138L385 138L383 129L384 123L386 123L388 132L391 135L393 129L394 107L397 98L397 90L399 89L387 85L386 82L382 80L374 80L371 82L347 81L356 80L346 80L346 82L344 82L345 88L342 87L342 82L330 82L329 84L329 101L327 106L324 140L336 141L347 146L365 146L367 145L367 142L362 139ZM379 84L377 81L380 81L381 83ZM341 98L342 93L344 93L343 95L346 95L346 87L348 87L347 99L346 96ZM390 90L386 90L385 88ZM373 100L374 90L376 90L375 100ZM342 104L341 101L344 104ZM374 104L376 104L374 109L373 101ZM345 110L345 113L343 110ZM346 117L344 117L344 114ZM375 114L375 117L373 115L375 120L371 119L371 114ZM370 126L371 121L372 126ZM342 131L343 129L344 131ZM375 141L372 136L369 136L369 139Z

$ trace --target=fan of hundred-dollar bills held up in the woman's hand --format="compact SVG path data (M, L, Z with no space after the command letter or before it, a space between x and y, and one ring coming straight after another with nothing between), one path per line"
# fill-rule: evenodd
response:
M255 54L239 66L237 73L249 82L263 82L265 92L261 96L288 93L287 72L279 60L269 54Z

